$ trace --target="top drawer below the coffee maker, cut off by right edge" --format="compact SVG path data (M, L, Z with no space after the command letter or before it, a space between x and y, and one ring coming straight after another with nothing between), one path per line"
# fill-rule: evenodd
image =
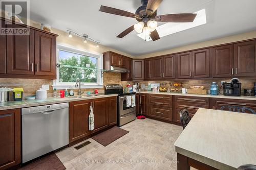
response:
M245 106L256 107L256 101L236 100L236 99L212 99L212 106Z

